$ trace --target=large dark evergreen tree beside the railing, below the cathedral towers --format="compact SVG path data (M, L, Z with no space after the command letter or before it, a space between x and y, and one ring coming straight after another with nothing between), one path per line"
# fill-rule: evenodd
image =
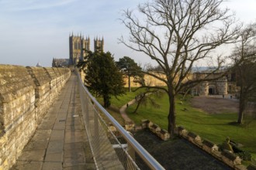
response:
M103 97L104 107L109 107L111 96L125 93L123 75L111 53L92 53L85 70L85 84L92 93Z

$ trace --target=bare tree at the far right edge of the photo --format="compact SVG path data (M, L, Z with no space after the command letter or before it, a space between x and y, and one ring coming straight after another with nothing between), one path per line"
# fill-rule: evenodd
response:
M239 42L231 56L240 87L237 123L243 124L247 102L256 96L256 23L246 26L239 34Z

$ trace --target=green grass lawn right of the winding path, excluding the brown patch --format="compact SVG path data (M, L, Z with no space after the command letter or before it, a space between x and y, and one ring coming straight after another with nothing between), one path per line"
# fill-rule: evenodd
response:
M160 109L154 107L140 107L137 114L132 114L135 105L130 106L126 112L129 117L137 124L142 119L148 119L161 128L167 129L168 121L168 97L164 95L161 99L157 99L161 104ZM245 126L239 126L234 122L237 120L235 113L223 114L207 114L206 112L191 107L189 100L180 100L176 103L177 125L182 125L189 131L199 134L201 138L206 138L216 144L221 144L225 138L230 137L231 140L244 145L243 149L250 151L256 158L256 121ZM186 108L186 110L184 110Z

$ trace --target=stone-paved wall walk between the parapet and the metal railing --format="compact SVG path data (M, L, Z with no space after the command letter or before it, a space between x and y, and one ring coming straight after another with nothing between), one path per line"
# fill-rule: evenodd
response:
M12 169L95 169L87 143L78 80L72 73Z

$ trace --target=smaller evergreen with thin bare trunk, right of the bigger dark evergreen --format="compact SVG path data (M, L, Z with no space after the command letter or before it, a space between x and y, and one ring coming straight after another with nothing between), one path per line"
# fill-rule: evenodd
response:
M133 76L134 80L143 78L143 74L141 73L141 67L135 63L133 59L129 56L123 56L119 61L116 62L116 65L122 70L123 74L128 77L128 89L130 92L130 77Z

